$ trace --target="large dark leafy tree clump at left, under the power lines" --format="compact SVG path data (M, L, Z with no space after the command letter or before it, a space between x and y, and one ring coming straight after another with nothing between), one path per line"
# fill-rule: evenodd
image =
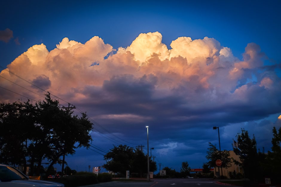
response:
M64 156L89 147L92 140L87 115L74 115L50 94L35 104L1 103L0 129L0 163L23 166L24 173L30 166L30 175L40 174L43 160L48 160L48 174L55 163L65 163Z

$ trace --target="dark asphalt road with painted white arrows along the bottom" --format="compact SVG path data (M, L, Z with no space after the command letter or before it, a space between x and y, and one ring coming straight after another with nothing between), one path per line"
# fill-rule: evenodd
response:
M222 186L214 180L206 179L151 179L150 182L113 181L83 187L212 187ZM234 187L234 186L232 186Z

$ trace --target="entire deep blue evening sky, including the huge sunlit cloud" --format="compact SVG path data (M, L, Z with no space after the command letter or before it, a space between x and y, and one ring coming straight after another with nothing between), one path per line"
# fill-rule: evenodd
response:
M42 101L48 91L87 112L91 147L66 157L78 171L102 166L114 145L147 153L146 126L158 172L186 161L202 168L208 143L219 149L220 136L221 149L233 150L242 128L271 151L281 127L280 8L270 0L5 1L0 102Z

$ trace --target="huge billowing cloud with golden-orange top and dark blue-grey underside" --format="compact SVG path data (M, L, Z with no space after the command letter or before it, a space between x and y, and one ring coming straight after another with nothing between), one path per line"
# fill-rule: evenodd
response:
M264 66L267 57L257 44L245 47L242 60L215 38L179 37L170 47L162 43L159 32L141 33L117 50L98 36L85 44L63 38L51 51L44 44L33 45L7 68L120 133L125 132L118 126L149 123L166 135L176 134L174 142L188 127L240 126L281 113L281 81L274 71L280 67ZM0 75L30 87L7 71ZM0 82L23 94L12 82ZM39 100L38 95L30 96ZM1 101L18 97L4 90ZM165 154L179 144L159 151Z

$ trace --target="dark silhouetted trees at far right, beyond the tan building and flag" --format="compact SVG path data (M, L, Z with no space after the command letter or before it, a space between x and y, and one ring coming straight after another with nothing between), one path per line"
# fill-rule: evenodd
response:
M244 169L244 176L253 181L264 181L265 178L271 178L273 184L281 183L281 128L273 128L272 151L265 153L264 149L257 150L256 138L251 138L248 131L241 129L236 135L237 144L234 152L239 155L241 163L234 160Z

